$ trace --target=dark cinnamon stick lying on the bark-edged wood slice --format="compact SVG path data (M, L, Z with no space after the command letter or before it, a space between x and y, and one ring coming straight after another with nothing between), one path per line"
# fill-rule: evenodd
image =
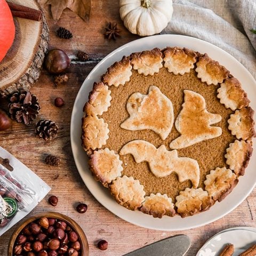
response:
M27 6L7 3L10 7L12 15L18 18L24 18L29 20L41 21L42 19L42 11L36 10Z

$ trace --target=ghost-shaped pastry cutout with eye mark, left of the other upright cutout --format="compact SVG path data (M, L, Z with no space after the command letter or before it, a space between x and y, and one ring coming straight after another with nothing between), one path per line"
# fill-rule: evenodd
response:
M165 140L171 132L174 115L172 102L156 86L150 86L148 94L133 93L127 100L130 114L120 126L129 131L149 129Z

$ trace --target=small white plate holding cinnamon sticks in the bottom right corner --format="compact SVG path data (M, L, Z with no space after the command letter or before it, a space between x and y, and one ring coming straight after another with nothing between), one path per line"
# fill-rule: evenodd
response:
M196 256L217 256L226 244L234 244L233 256L238 256L255 243L256 233L254 231L244 229L223 231L207 241Z

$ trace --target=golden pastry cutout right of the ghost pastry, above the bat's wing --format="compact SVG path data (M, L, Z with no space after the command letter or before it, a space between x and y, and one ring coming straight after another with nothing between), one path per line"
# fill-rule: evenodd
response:
M206 110L204 97L189 90L184 90L184 93L182 110L175 121L175 127L181 135L170 143L172 149L186 148L222 134L220 127L211 126L220 122L221 116Z

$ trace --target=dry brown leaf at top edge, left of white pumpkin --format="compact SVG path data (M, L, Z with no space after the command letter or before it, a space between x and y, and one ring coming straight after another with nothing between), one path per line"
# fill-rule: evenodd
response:
M91 12L91 0L48 0L46 4L51 5L52 18L59 20L63 10L66 8L78 14L84 21L89 21Z

